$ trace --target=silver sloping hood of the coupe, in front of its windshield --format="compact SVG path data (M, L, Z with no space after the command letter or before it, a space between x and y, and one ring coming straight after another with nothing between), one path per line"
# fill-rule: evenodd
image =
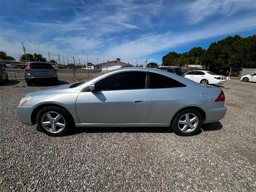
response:
M72 84L74 84L74 83L72 83ZM38 96L38 95L49 95L49 94L58 94L58 93L80 92L82 90L81 86L70 88L70 86L72 84L65 84L65 85L41 89L36 92L31 92L29 94L26 94L26 96Z

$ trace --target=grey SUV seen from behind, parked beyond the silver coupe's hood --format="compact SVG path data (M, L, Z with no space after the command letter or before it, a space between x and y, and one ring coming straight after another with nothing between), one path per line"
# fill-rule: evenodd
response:
M35 81L51 81L58 84L57 69L47 62L29 62L24 72L28 86Z

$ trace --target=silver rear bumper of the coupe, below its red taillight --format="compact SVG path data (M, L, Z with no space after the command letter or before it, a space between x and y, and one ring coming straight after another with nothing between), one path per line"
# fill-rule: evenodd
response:
M206 119L204 123L216 122L224 118L227 108L221 103L214 102L209 108L205 109Z

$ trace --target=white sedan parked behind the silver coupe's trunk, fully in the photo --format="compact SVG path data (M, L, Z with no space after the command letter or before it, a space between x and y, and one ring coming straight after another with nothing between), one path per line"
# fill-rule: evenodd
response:
M224 76L215 74L210 71L190 71L185 73L185 78L200 84L223 84Z

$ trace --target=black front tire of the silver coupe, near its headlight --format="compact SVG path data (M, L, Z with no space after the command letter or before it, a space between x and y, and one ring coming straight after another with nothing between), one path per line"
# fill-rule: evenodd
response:
M60 118L56 121L58 115ZM45 124L43 125L42 122ZM38 112L36 124L40 131L49 136L62 136L71 130L74 121L67 110L60 107L46 107Z

